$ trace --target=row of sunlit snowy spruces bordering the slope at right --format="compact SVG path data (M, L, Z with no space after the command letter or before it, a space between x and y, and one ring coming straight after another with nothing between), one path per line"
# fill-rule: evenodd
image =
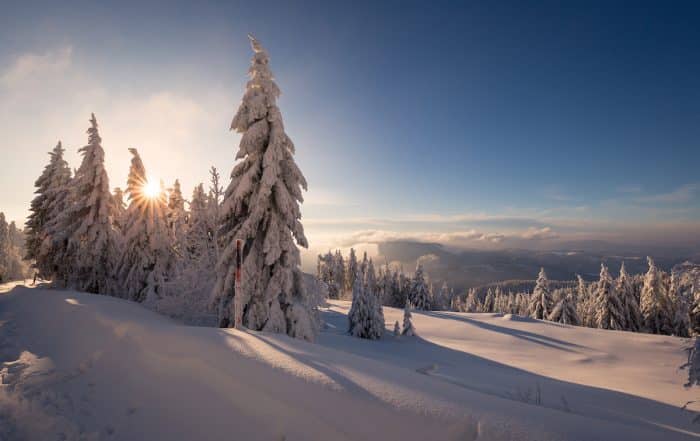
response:
M688 337L700 333L700 267L677 265L670 272L647 258L646 274L630 275L624 263L617 278L601 264L597 282L578 277L552 288L544 270L532 292L506 291L494 284L455 297L452 309L530 316L571 325Z

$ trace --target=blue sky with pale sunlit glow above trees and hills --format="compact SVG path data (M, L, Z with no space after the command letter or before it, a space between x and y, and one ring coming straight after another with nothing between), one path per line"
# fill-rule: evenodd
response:
M309 181L313 251L700 236L698 2L98 3L2 6L11 219L58 139L78 166L93 111L111 186L128 147L187 192L211 165L228 181L251 32Z

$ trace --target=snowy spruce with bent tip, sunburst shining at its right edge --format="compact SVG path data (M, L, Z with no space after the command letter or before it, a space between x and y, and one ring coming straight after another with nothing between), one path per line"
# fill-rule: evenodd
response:
M137 302L155 302L165 293L172 273L172 230L167 223L165 195L145 194L146 168L136 149L132 154L126 194L124 254L118 266L122 296Z

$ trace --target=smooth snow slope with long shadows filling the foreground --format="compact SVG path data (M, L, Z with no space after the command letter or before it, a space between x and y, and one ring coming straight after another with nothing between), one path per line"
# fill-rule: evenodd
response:
M10 287L6 287L8 290ZM1 289L0 289L1 291ZM493 314L315 344L187 327L111 297L0 295L0 440L683 440L687 342ZM387 327L403 311L385 308Z

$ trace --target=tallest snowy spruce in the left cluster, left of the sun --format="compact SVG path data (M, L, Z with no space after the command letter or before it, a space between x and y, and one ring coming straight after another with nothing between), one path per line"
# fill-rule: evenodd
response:
M115 289L119 236L114 230L116 208L94 114L87 133L88 143L79 150L83 160L71 181L68 203L53 237L59 244L67 239L65 274L60 278L81 291L110 294Z

